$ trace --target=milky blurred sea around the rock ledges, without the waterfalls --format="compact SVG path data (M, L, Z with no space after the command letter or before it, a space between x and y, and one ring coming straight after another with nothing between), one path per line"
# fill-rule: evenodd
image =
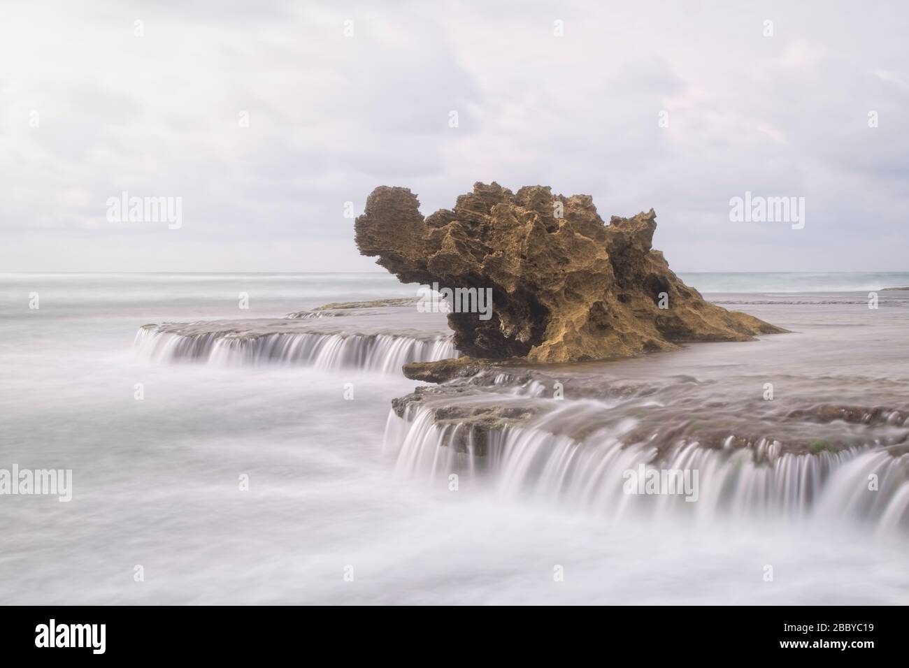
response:
M241 292L248 310L238 309ZM149 364L133 349L146 323L414 294L385 274L0 276L0 468L72 469L74 485L69 503L0 495L0 600L909 603L899 530L836 513L594 512L470 476L451 492L446 476L402 474L383 452L389 402L415 386L403 376ZM742 401L770 422L786 402L909 408L903 295L881 293L876 310L866 293L708 296L751 302L730 307L794 334L565 374L642 384L691 376L701 384L688 384L697 388L688 410L735 415ZM768 379L773 410L760 399ZM707 405L716 394L725 407ZM144 582L134 580L138 564Z

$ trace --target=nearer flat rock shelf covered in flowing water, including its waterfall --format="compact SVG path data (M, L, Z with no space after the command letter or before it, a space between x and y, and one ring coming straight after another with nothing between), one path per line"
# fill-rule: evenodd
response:
M405 374L432 385L393 402L385 451L407 477L442 486L458 474L464 490L610 518L843 520L903 534L909 304L789 303L816 299L756 309L798 332L756 345L689 344L610 363L412 365ZM696 471L697 500L627 494L625 474L642 465Z

